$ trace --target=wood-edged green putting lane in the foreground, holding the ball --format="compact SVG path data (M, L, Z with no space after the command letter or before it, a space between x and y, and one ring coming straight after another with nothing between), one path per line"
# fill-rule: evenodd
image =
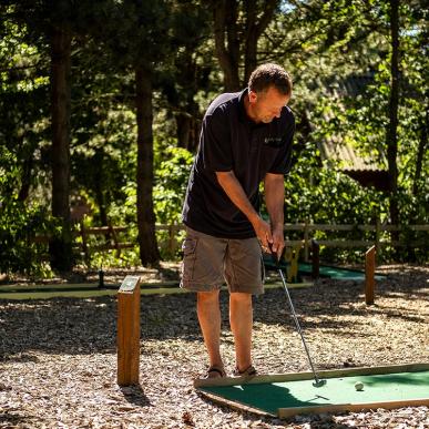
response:
M251 379L195 380L210 399L233 408L276 417L429 405L429 364L318 371L327 382L313 386L311 372ZM364 382L357 391L355 384Z

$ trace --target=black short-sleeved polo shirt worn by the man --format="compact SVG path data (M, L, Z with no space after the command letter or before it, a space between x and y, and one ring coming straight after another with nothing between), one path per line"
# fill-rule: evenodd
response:
M200 146L183 206L183 223L221 238L249 238L255 231L218 184L216 172L233 171L255 210L266 173L290 170L295 119L285 106L270 123L255 123L246 114L247 89L217 96L205 113Z

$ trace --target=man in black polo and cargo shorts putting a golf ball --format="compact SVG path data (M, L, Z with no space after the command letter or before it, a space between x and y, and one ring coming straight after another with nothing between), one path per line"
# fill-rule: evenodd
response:
M252 365L252 295L263 289L262 251L284 248L284 174L290 168L294 115L287 72L263 64L248 88L217 96L203 120L200 147L183 207L181 286L197 294L197 315L208 351L207 378L224 377L219 350L219 288L229 289L235 375L256 374ZM269 223L259 215L264 182Z

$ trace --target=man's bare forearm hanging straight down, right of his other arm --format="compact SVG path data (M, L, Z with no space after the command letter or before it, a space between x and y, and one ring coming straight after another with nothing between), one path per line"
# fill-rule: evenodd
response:
M285 247L284 213L285 183L283 174L267 173L264 180L265 203L269 214L269 223L273 233L273 252L280 257Z

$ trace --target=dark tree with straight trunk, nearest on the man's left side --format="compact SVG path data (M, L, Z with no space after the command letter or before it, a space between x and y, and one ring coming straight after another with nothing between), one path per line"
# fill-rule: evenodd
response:
M114 63L134 76L135 112L137 125L137 241L143 265L156 265L160 252L155 235L153 210L153 91L157 70L166 58L171 28L168 4L149 0L124 0L115 3L113 19L118 22L106 29L104 43Z

